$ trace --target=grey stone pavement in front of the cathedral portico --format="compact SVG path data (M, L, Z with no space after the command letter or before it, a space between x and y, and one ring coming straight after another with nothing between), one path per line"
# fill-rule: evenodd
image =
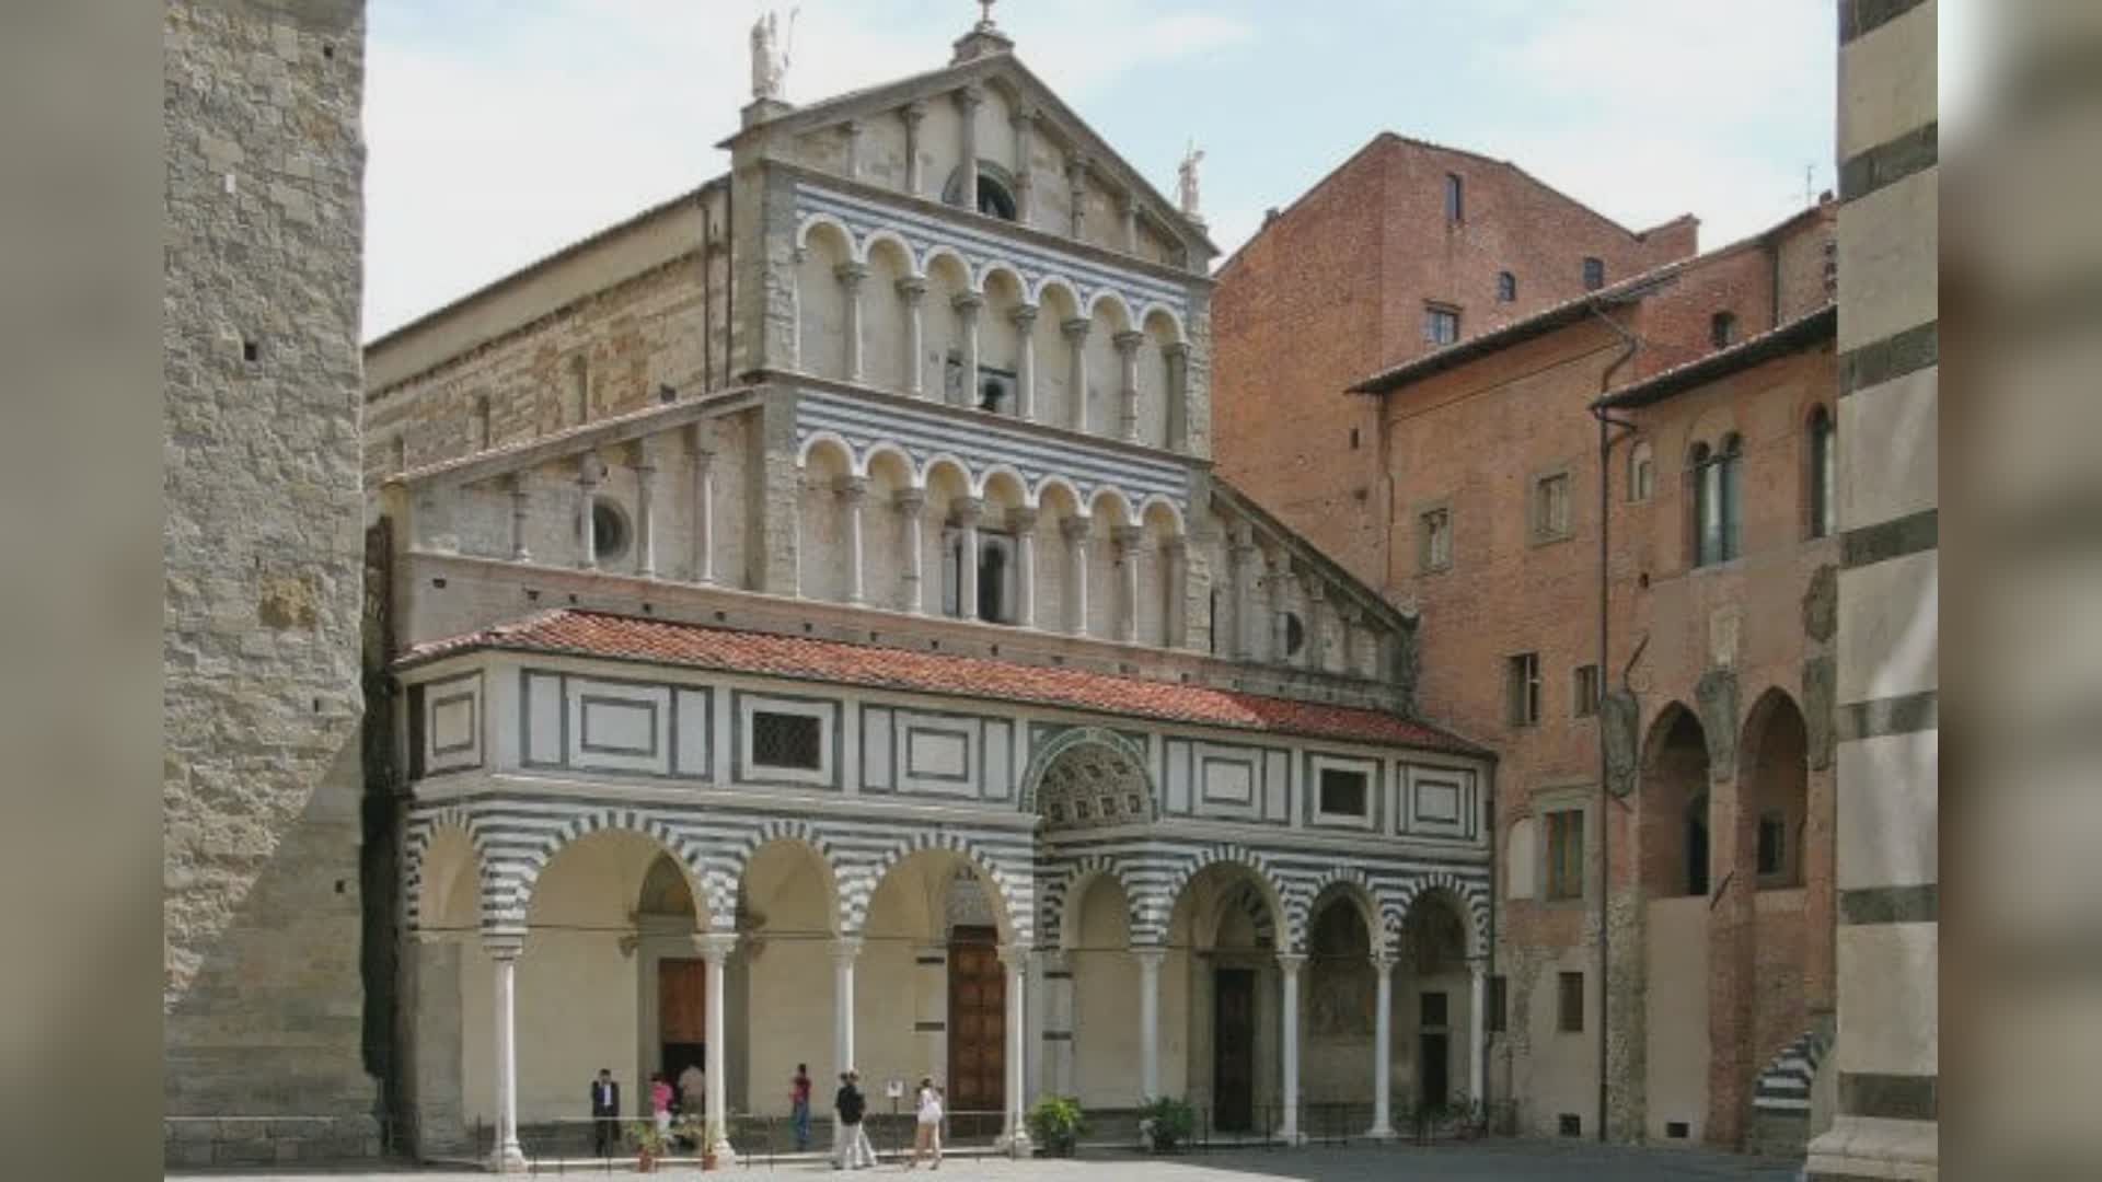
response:
M616 1163L616 1176L633 1176L635 1165ZM692 1167L668 1167L666 1178L700 1178ZM832 1169L818 1161L784 1161L771 1169L757 1161L740 1165L725 1178L830 1178ZM864 1176L900 1176L900 1165L881 1165ZM338 1171L330 1178L416 1178L418 1182L486 1182L490 1174L473 1171ZM553 1174L549 1174L553 1176ZM570 1167L563 1178L605 1178L599 1163L591 1167ZM313 1178L313 1174L185 1174L183 1178L225 1178L227 1182L292 1182ZM1385 1182L1392 1178L1425 1178L1438 1182L1679 1182L1679 1180L1740 1180L1740 1182L1793 1182L1795 1165L1776 1165L1745 1157L1707 1155L1692 1150L1637 1150L1600 1148L1595 1144L1562 1142L1495 1142L1495 1144L1448 1144L1448 1146L1349 1146L1349 1148L1301 1148L1286 1150L1217 1150L1188 1157L1150 1159L1112 1153L1093 1153L1066 1161L1009 1161L1005 1157L959 1159L952 1157L933 1174L940 1182L1038 1182L1038 1180L1089 1180L1089 1182Z

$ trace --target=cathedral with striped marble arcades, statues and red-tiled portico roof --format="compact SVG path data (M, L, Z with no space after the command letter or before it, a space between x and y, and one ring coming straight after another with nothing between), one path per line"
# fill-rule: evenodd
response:
M727 175L366 353L420 1153L517 1165L599 1068L698 1068L719 1155L797 1064L1013 1148L1480 1096L1495 761L1213 475L1194 158L990 21L801 107L753 42Z

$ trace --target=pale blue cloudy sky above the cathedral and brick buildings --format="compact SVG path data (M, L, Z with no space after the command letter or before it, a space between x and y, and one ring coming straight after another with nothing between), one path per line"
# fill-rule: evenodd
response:
M803 0L788 99L948 61L967 0ZM759 0L372 0L366 337L715 177ZM1234 250L1381 130L1719 246L1833 185L1833 2L1001 0L1015 53Z

